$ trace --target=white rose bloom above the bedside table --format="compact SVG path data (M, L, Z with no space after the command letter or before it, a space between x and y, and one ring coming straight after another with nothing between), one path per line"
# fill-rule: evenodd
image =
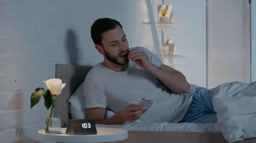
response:
M60 95L62 89L66 86L65 83L62 84L61 79L48 79L47 81L43 81L47 89L51 92L52 95Z

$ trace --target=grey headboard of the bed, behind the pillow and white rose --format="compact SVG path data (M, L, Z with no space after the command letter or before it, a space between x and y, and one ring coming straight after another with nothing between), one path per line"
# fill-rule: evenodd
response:
M62 83L66 83L66 87L62 90L56 103L57 112L61 117L61 127L65 127L70 119L66 107L67 100L84 81L85 76L91 69L92 66L56 64L55 77L61 79Z

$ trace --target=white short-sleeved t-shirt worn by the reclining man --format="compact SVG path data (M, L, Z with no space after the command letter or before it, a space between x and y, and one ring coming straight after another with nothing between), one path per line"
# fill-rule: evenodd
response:
M152 64L158 67L163 64L146 48L134 48L145 51ZM188 94L172 92L154 75L131 61L123 72L96 64L84 81L86 108L101 107L117 113L129 104L137 104L144 97L147 100L154 100L152 107L140 117L143 123L177 123L186 114L193 93L194 89Z

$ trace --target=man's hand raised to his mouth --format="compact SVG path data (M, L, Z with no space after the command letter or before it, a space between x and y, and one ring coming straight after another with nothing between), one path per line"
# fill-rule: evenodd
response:
M153 65L148 59L147 54L144 51L132 49L128 52L128 58L132 62L135 62L139 67L149 70Z

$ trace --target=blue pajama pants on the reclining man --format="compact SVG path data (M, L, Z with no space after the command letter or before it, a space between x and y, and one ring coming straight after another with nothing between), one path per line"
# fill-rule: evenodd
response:
M212 97L212 90L197 88L186 115L178 123L216 123L217 116L212 106Z

